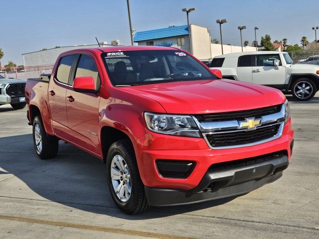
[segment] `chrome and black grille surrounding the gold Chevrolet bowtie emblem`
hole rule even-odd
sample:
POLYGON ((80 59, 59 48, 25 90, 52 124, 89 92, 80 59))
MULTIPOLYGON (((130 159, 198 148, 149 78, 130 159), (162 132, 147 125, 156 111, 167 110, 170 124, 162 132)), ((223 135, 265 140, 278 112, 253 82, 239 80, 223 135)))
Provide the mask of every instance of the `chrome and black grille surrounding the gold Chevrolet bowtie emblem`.
POLYGON ((193 119, 210 148, 246 147, 281 137, 284 129, 285 105, 250 111, 195 115, 193 119), (261 119, 261 123, 256 127, 241 127, 241 122, 246 122, 248 119, 261 119))

